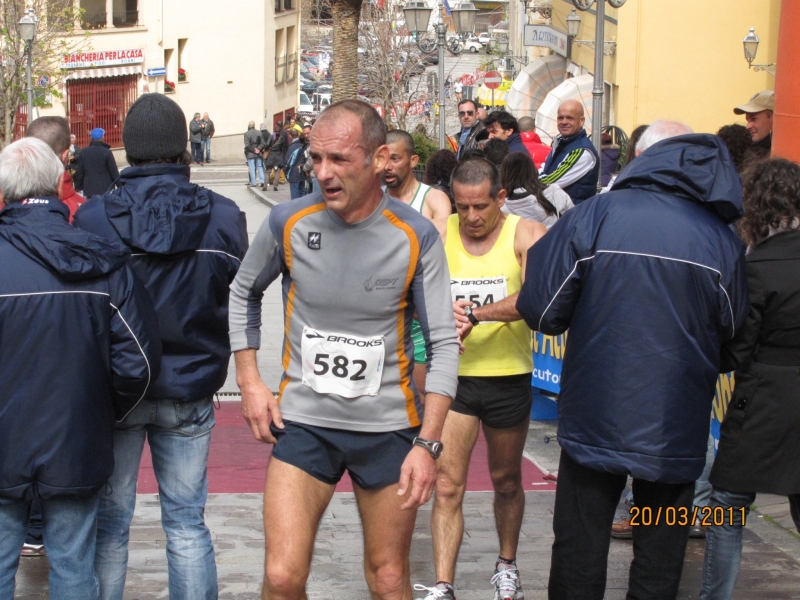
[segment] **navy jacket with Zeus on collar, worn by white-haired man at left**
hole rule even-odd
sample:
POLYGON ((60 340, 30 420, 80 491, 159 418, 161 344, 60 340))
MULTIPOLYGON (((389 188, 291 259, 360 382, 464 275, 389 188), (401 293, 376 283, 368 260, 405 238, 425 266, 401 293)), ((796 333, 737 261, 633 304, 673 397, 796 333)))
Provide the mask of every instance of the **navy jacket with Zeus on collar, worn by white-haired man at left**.
POLYGON ((129 252, 67 224, 57 198, 0 212, 0 503, 83 495, 158 377, 155 311, 129 252))

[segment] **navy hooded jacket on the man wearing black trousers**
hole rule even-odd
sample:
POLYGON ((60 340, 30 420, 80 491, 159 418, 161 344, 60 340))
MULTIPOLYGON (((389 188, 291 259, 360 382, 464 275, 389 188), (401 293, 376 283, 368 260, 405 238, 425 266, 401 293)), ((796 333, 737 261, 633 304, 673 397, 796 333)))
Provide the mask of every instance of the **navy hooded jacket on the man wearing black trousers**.
POLYGON ((528 251, 517 309, 569 329, 558 440, 581 465, 647 481, 705 465, 721 346, 749 308, 739 176, 713 135, 661 141, 612 191, 568 211, 528 251))

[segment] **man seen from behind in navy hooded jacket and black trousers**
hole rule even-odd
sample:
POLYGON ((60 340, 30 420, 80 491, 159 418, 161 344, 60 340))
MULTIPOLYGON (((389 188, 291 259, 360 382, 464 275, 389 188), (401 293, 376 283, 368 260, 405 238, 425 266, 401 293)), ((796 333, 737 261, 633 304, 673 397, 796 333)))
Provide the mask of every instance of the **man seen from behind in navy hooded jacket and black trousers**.
POLYGON ((742 188, 722 141, 659 121, 636 149, 611 192, 528 251, 517 301, 531 329, 569 329, 551 599, 603 598, 628 475, 628 597, 677 596, 720 348, 748 310, 744 252, 728 227, 742 188))

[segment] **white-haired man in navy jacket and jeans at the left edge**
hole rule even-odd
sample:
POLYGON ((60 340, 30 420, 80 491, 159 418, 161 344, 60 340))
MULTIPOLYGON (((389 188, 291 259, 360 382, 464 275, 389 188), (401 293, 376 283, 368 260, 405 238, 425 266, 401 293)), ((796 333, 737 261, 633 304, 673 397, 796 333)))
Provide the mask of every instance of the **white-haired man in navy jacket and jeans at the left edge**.
POLYGON ((161 361, 130 251, 67 223, 63 175, 36 138, 0 155, 0 598, 14 597, 37 498, 50 597, 98 597, 95 529, 114 421, 144 397, 161 361))

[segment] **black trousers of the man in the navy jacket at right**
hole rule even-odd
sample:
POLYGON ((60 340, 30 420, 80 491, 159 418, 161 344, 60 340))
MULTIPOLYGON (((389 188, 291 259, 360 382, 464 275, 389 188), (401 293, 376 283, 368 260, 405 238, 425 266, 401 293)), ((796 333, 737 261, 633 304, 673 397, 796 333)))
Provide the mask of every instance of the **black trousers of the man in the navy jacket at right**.
MULTIPOLYGON (((611 524, 626 479, 625 475, 581 466, 561 452, 553 515, 550 600, 602 600, 611 524)), ((634 479, 633 497, 637 508, 650 507, 653 515, 658 507, 686 507, 691 515, 694 483, 634 479)), ((678 595, 688 538, 688 524, 670 526, 663 518, 658 526, 633 528, 628 600, 668 600, 678 595)))

